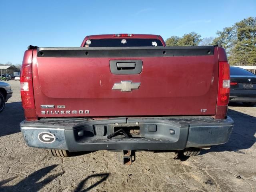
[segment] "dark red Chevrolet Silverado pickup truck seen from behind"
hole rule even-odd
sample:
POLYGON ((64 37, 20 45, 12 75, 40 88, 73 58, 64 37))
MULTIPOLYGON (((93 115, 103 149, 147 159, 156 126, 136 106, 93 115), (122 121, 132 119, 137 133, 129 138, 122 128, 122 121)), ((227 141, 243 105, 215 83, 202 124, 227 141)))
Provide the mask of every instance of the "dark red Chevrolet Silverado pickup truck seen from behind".
MULTIPOLYGON (((158 35, 86 36, 29 46, 20 77, 28 146, 70 152, 180 150, 224 144, 230 68, 218 46, 166 46, 158 35)), ((130 159, 128 159, 130 160, 130 159)))

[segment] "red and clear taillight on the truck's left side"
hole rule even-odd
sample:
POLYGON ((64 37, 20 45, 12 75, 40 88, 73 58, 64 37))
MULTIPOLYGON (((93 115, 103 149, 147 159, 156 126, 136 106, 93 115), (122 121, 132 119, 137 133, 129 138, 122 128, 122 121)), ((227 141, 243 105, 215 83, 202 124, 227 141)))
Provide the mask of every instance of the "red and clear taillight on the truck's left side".
POLYGON ((32 83, 32 64, 22 64, 20 73, 22 107, 24 109, 34 109, 35 102, 32 83))

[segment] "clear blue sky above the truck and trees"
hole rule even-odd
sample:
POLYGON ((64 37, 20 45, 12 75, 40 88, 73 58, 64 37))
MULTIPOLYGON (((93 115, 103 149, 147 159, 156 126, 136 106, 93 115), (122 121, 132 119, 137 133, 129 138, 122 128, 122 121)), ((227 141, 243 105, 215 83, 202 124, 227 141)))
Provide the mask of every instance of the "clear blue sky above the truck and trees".
POLYGON ((256 16, 256 0, 5 0, 0 1, 0 63, 20 64, 30 44, 80 46, 92 34, 216 36, 249 16, 256 16))

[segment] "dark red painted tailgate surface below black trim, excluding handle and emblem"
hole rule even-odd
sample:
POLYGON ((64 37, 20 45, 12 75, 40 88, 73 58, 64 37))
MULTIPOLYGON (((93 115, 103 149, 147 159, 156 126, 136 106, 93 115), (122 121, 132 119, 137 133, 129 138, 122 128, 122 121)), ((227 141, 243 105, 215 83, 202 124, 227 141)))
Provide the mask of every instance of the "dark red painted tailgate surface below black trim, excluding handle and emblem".
POLYGON ((35 56, 33 84, 38 117, 214 115, 218 55, 154 58, 35 56), (134 75, 110 72, 110 60, 126 59, 142 60, 142 72, 134 75), (139 89, 132 92, 112 90, 114 83, 125 80, 140 82, 139 89), (42 109, 41 105, 54 105, 55 108, 42 109), (58 105, 65 108, 57 108, 58 105), (54 114, 42 114, 41 111, 47 110, 54 114), (64 114, 58 112, 61 110, 64 114), (66 110, 89 110, 90 113, 66 114, 66 110))

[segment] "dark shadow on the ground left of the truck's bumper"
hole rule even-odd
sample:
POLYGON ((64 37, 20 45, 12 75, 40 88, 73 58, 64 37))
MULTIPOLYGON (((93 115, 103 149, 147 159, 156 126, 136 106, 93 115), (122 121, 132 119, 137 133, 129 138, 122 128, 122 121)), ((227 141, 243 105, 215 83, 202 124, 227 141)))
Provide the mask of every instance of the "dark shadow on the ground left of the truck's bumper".
POLYGON ((0 113, 0 136, 20 132, 20 122, 24 119, 21 102, 6 103, 0 113))

